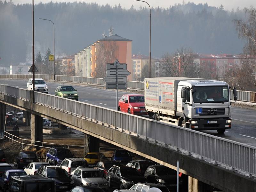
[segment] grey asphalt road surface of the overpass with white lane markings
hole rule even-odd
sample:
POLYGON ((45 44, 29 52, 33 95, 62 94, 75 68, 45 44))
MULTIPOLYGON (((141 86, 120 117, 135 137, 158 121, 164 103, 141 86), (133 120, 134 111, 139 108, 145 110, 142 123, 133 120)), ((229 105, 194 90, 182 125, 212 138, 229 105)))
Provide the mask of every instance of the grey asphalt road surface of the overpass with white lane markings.
MULTIPOLYGON (((7 80, 1 79, 0 84, 25 88, 28 80, 7 80)), ((54 95, 55 89, 59 85, 68 85, 68 82, 47 82, 48 93, 54 95)), ((116 109, 116 92, 113 90, 92 88, 88 86, 72 85, 77 89, 79 101, 98 105, 105 108, 116 109)), ((118 92, 118 100, 123 94, 130 94, 127 92, 118 92)), ((256 147, 256 110, 246 108, 232 109, 232 128, 228 129, 225 134, 219 135, 217 131, 204 131, 218 137, 234 140, 244 144, 249 144, 256 147)), ((72 134, 73 135, 73 134, 72 134)), ((82 136, 82 135, 81 135, 82 136)), ((69 134, 68 134, 69 137, 69 134)), ((73 136, 74 137, 74 136, 73 136)))

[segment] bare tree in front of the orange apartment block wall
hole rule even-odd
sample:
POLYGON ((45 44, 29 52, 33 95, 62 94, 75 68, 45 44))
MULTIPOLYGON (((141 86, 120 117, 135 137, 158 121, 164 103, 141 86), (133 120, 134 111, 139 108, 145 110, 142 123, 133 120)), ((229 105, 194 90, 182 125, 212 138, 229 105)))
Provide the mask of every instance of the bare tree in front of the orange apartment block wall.
POLYGON ((100 41, 97 46, 97 63, 96 63, 96 77, 103 78, 107 76, 106 65, 113 63, 118 59, 118 45, 115 41, 100 41))

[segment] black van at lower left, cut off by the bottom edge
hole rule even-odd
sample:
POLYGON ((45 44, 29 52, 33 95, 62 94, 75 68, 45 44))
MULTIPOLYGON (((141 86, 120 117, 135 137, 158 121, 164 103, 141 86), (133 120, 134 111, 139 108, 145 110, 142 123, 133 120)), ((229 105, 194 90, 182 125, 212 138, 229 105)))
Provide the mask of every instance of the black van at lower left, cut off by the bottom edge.
POLYGON ((54 180, 42 176, 12 176, 9 185, 9 192, 55 192, 54 180))

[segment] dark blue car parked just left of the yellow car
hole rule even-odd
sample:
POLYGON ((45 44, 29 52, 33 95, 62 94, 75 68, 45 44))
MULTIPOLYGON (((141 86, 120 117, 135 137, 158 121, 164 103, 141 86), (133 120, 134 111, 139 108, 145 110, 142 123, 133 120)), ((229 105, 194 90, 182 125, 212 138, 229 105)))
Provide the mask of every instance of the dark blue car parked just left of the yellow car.
POLYGON ((46 162, 50 164, 60 165, 63 159, 72 158, 73 155, 69 149, 66 148, 50 148, 46 154, 46 162))

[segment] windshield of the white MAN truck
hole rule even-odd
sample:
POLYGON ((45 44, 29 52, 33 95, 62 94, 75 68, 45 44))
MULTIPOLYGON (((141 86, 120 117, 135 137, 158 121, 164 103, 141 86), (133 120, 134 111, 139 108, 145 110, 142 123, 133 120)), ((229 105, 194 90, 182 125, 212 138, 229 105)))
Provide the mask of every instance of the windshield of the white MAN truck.
POLYGON ((193 88, 192 94, 195 103, 222 103, 229 101, 228 86, 198 86, 193 88))

